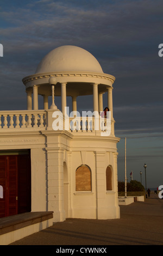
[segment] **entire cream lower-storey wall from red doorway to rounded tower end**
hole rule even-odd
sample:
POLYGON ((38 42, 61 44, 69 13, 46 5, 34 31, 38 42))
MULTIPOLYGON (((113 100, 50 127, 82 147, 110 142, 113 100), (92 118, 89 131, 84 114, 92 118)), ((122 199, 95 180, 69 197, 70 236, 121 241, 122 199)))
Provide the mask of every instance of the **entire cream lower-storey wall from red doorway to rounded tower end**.
POLYGON ((45 131, 43 135, 36 132, 32 135, 32 143, 30 138, 21 135, 21 142, 19 139, 16 144, 13 136, 9 143, 4 138, 1 143, 5 145, 3 149, 31 150, 32 211, 54 211, 53 221, 64 221, 65 217, 120 217, 117 202, 118 139, 91 134, 73 137, 68 132, 54 131, 45 131), (91 192, 76 192, 75 174, 81 164, 87 164, 91 169, 91 192), (106 191, 105 177, 108 165, 112 168, 112 191, 109 192, 106 191))

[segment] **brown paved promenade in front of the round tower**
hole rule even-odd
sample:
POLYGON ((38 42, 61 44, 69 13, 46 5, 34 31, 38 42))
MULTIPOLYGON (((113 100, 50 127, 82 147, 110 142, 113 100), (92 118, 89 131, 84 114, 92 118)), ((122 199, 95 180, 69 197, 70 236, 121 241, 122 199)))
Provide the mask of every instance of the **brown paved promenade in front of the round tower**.
POLYGON ((163 199, 120 206, 117 220, 67 219, 11 245, 163 245, 163 199))

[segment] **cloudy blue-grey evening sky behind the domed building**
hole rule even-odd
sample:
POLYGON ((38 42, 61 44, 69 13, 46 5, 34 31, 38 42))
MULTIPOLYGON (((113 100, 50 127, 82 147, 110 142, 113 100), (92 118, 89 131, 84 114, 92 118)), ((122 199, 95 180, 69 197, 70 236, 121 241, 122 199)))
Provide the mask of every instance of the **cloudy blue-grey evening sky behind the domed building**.
MULTIPOLYGON (((133 180, 141 181, 142 172, 145 186, 146 163, 147 187, 163 185, 162 0, 5 0, 0 2, 0 24, 0 111, 27 108, 22 78, 34 74, 49 51, 82 47, 104 73, 116 77, 118 180, 124 181, 126 137, 128 180, 132 171, 133 180)), ((78 99, 78 108, 83 101, 78 99)), ((107 106, 107 95, 103 103, 107 106)), ((86 97, 84 105, 90 110, 92 98, 86 97)))

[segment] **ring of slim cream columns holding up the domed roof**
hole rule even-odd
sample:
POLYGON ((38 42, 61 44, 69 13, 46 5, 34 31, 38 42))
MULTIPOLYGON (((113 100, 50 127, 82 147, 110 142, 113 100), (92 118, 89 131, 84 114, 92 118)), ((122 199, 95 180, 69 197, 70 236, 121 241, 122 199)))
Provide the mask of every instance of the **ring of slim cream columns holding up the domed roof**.
MULTIPOLYGON (((66 84, 61 83, 61 112, 65 114, 66 104, 66 84)), ((93 86, 93 111, 103 111, 103 93, 98 94, 98 83, 92 83, 93 86)), ((33 109, 37 110, 38 107, 38 87, 33 86, 27 90, 27 109, 32 109, 32 93, 33 93, 33 109)), ((112 87, 108 87, 108 107, 112 115, 112 87)), ((54 106, 54 86, 52 86, 52 105, 54 106)), ((43 108, 48 109, 48 96, 43 95, 43 108)), ((55 107, 54 107, 55 108, 55 107)), ((72 96, 72 110, 77 111, 77 96, 72 96)))

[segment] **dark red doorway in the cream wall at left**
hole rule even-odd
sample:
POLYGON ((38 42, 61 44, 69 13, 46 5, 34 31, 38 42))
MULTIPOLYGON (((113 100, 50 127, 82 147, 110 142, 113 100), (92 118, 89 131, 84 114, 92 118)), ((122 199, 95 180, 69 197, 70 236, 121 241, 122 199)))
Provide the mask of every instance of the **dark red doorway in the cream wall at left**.
POLYGON ((30 151, 0 155, 0 217, 31 211, 30 151))

